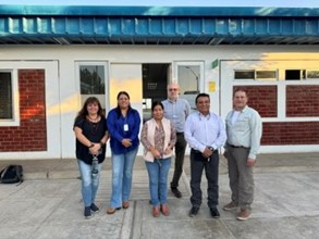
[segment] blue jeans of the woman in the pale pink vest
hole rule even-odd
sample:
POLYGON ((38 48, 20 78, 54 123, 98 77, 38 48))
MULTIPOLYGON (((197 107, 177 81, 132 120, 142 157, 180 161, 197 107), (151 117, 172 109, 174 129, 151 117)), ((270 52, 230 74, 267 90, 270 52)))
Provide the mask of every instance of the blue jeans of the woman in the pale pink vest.
POLYGON ((158 206, 168 202, 168 175, 171 167, 171 158, 145 161, 148 178, 151 204, 158 206))

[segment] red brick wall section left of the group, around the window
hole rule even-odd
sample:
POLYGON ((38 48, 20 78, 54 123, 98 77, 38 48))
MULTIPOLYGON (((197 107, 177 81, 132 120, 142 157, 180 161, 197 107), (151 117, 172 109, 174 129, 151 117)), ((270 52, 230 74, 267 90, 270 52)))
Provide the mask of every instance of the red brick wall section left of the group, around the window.
POLYGON ((0 128, 0 151, 46 151, 46 87, 44 70, 20 70, 19 127, 0 128))

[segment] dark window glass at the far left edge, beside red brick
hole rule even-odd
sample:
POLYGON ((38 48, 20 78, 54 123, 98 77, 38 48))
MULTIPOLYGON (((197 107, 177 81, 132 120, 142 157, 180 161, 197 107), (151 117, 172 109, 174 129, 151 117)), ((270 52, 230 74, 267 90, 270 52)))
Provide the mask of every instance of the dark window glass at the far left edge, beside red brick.
POLYGON ((0 120, 13 120, 12 78, 10 72, 0 72, 0 120))

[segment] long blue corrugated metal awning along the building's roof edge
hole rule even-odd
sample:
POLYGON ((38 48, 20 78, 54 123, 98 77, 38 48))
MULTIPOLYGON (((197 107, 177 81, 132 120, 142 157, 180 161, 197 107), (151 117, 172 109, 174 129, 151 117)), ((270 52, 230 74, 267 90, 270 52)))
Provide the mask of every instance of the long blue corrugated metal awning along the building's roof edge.
POLYGON ((0 5, 0 45, 318 45, 319 9, 0 5))

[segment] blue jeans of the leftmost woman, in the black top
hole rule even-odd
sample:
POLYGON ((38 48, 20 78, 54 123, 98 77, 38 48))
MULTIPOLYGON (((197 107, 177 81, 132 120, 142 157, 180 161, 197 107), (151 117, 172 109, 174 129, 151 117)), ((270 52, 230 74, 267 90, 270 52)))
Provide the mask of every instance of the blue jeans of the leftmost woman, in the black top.
POLYGON ((98 191, 99 187, 99 180, 100 180, 100 172, 102 164, 100 163, 98 166, 98 175, 93 178, 90 173, 90 164, 86 164, 81 160, 77 160, 78 169, 81 173, 81 179, 82 179, 82 197, 84 206, 90 206, 91 203, 95 202, 95 198, 98 191))

